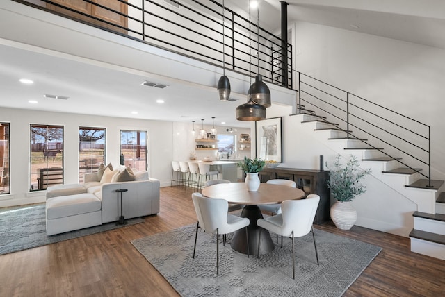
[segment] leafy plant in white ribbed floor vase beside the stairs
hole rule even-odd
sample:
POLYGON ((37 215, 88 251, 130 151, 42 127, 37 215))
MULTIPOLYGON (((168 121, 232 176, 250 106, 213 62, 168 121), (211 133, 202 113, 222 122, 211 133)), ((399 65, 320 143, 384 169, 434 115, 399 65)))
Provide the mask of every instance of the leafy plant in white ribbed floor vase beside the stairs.
POLYGON ((333 167, 328 167, 327 162, 326 167, 330 169, 327 186, 337 200, 330 210, 331 219, 337 228, 349 230, 357 221, 357 211, 350 201, 366 192, 366 186, 360 181, 371 173, 371 169, 360 168, 357 157, 353 155, 346 164, 342 164, 341 156, 337 155, 333 167))

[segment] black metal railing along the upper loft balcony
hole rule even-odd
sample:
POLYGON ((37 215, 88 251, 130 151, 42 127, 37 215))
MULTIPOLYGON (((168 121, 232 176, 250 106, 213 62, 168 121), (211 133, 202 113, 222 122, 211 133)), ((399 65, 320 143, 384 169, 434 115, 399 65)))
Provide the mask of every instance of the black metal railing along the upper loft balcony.
MULTIPOLYGON (((13 1, 241 74, 261 74, 264 80, 283 85, 273 78, 274 73, 282 71, 282 63, 277 63, 281 57, 276 53, 276 49, 282 51, 280 37, 227 7, 223 12, 223 5, 215 0, 189 3, 142 0, 138 4, 127 0, 102 1, 102 4, 79 0, 76 6, 74 2, 61 0, 40 0, 37 2, 40 5, 31 0, 13 1)), ((291 44, 285 50, 289 57, 285 70, 291 77, 291 44)), ((292 87, 291 79, 286 83, 284 87, 292 87)))

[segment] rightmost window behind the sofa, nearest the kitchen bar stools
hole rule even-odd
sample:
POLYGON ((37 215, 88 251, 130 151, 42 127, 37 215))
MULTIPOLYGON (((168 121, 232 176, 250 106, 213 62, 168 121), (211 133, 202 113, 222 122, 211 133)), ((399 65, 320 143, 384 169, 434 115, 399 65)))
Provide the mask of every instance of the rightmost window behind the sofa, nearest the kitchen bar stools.
POLYGON ((147 131, 120 130, 120 164, 147 170, 147 131))

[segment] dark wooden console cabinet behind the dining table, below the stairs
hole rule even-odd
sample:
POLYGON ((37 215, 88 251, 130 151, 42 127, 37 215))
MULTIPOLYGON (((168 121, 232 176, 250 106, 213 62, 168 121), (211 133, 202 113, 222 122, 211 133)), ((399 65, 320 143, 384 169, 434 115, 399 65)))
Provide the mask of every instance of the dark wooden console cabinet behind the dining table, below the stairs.
POLYGON ((315 214, 314 223, 323 223, 330 220, 330 190, 327 187, 329 171, 319 171, 311 169, 296 168, 265 168, 259 172, 261 183, 268 180, 285 179, 296 182, 296 187, 305 191, 305 196, 317 194, 320 196, 320 203, 315 214))

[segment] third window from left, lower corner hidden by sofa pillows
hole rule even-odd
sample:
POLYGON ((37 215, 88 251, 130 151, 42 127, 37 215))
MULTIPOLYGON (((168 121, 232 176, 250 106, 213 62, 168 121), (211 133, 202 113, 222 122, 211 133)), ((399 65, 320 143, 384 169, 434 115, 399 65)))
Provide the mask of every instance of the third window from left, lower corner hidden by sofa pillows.
POLYGON ((105 163, 105 128, 79 127, 79 183, 105 163))

